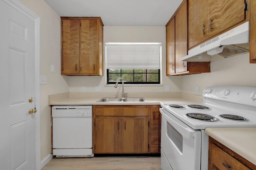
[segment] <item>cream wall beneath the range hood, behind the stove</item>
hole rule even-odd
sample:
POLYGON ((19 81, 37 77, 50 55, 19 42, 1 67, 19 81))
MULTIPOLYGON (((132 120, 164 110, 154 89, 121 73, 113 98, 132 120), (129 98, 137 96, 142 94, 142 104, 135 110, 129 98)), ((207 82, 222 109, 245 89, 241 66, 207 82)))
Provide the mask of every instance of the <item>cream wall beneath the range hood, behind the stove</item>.
POLYGON ((211 72, 181 76, 181 91, 200 94, 207 86, 252 86, 256 87, 256 64, 249 63, 249 53, 211 62, 211 72))

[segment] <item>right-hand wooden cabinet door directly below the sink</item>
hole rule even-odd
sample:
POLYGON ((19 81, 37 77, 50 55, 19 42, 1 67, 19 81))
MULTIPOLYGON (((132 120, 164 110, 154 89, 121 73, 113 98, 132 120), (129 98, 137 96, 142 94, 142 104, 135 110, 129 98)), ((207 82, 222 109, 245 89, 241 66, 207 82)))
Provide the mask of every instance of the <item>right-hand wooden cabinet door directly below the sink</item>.
POLYGON ((122 152, 148 153, 148 117, 122 120, 122 152))

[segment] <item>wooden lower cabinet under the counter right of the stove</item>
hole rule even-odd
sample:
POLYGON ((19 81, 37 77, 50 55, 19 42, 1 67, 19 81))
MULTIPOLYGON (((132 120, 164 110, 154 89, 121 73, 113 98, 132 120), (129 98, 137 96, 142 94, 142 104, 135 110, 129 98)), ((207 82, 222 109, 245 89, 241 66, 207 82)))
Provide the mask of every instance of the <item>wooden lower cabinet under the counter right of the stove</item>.
POLYGON ((255 170, 256 166, 209 137, 209 170, 255 170))

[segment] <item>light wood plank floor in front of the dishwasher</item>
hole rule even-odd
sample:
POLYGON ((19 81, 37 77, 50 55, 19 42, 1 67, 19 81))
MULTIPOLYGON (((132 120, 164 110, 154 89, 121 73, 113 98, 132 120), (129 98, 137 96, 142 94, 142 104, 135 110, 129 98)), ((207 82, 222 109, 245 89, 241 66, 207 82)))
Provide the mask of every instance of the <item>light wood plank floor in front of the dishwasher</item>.
POLYGON ((42 170, 161 170, 160 157, 53 158, 42 170))

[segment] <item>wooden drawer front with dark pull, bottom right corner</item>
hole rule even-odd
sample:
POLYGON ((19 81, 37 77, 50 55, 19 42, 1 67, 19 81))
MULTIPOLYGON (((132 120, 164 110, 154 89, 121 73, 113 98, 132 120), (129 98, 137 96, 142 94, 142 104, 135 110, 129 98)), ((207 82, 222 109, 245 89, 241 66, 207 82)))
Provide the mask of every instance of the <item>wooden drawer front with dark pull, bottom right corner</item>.
POLYGON ((211 154, 212 164, 209 167, 211 170, 228 170, 228 167, 231 170, 250 170, 247 166, 236 160, 234 157, 216 145, 212 145, 211 154))

